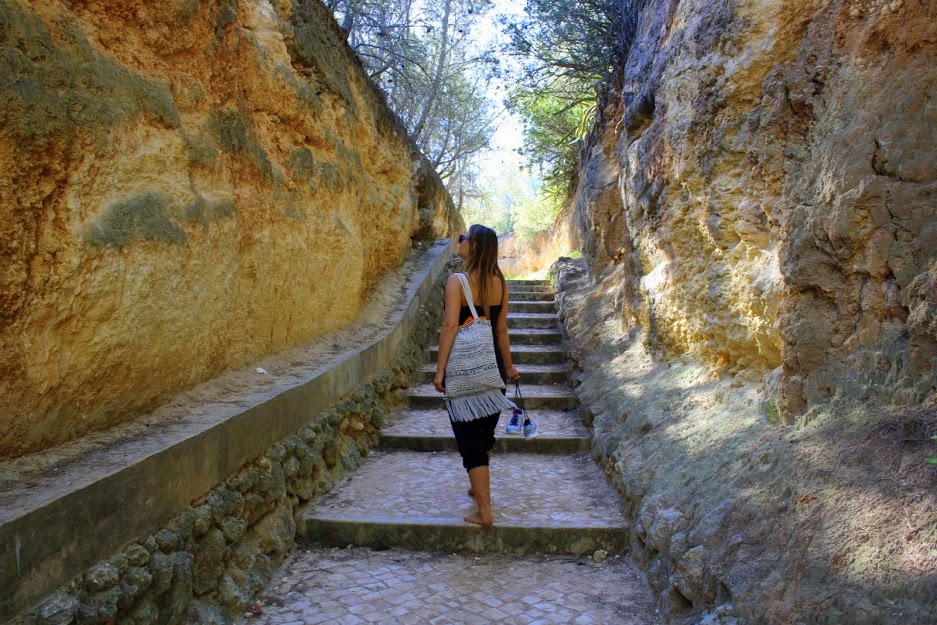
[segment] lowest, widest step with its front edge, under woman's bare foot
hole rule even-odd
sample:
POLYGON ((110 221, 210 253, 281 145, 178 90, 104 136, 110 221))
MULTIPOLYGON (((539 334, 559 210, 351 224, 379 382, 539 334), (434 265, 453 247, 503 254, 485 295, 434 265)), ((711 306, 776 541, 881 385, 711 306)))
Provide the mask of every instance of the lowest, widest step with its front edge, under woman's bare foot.
POLYGON ((476 510, 459 455, 377 451, 332 491, 301 509, 297 536, 325 546, 539 554, 623 552, 618 495, 587 454, 497 454, 495 525, 476 510), (610 505, 612 504, 612 505, 610 505))

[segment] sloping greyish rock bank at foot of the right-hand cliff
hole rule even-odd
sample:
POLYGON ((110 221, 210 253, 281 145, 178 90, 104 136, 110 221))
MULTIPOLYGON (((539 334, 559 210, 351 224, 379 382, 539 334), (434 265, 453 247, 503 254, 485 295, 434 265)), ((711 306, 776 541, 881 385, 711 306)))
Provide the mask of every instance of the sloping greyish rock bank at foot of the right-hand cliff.
POLYGON ((757 384, 649 354, 585 259, 552 275, 592 454, 665 623, 937 623, 937 405, 767 427, 757 384))

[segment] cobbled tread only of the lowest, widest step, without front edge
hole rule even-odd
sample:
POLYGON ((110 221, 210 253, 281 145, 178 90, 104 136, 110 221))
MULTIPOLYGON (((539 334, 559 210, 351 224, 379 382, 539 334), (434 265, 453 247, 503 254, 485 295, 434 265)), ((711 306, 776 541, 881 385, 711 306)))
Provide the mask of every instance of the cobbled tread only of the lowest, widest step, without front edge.
MULTIPOLYGON (((461 521, 476 510, 457 453, 376 452, 311 509, 315 516, 461 521)), ((621 526, 618 494, 585 454, 503 454, 491 462, 495 523, 621 526)))

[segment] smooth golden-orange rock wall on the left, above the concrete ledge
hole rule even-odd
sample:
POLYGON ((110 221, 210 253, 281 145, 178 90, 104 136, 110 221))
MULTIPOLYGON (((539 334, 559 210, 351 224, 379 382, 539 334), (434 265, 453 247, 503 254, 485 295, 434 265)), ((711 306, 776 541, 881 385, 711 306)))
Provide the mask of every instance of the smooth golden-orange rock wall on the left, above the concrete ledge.
POLYGON ((0 458, 355 318, 461 227, 317 0, 0 0, 0 458))

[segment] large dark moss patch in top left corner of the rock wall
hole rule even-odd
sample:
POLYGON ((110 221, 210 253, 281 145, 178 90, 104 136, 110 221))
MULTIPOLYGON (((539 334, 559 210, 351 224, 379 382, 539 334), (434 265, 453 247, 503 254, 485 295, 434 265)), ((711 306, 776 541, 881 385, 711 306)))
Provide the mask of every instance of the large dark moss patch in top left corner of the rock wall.
POLYGON ((77 24, 59 24, 57 35, 59 43, 35 13, 0 0, 0 125, 19 140, 90 131, 104 141, 112 125, 137 115, 179 127, 166 84, 99 54, 77 24))

